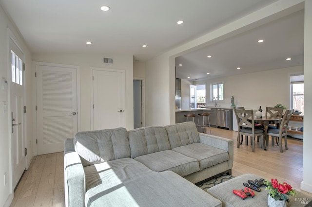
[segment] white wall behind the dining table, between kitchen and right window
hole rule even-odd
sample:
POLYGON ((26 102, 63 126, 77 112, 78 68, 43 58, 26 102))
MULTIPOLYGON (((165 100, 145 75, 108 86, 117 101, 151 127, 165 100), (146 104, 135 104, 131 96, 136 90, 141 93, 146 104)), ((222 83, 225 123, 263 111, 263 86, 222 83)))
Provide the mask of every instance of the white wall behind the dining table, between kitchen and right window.
MULTIPOLYGON (((222 81, 224 83, 224 99, 230 100, 234 96, 236 106, 245 106, 246 109, 257 109, 261 105, 273 107, 283 104, 290 108, 290 75, 303 73, 303 66, 274 69, 243 75, 229 76, 221 79, 198 81, 195 84, 206 84, 206 105, 213 106, 209 102, 210 85, 222 81)), ((231 102, 218 101, 218 105, 230 107, 231 102)))

